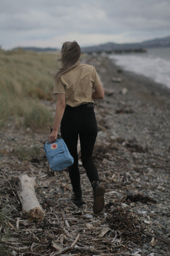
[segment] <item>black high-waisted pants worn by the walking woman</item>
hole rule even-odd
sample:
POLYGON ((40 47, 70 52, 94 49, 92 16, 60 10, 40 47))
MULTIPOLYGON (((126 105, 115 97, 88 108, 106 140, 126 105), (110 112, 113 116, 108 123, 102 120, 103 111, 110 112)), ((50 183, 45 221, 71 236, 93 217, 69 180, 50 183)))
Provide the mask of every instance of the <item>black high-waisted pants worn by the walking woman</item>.
POLYGON ((81 190, 77 150, 78 135, 81 146, 81 161, 88 178, 90 182, 99 180, 97 168, 92 160, 97 137, 97 123, 93 104, 89 103, 78 107, 66 106, 61 122, 61 135, 74 158, 74 164, 69 167, 69 174, 75 193, 81 190))

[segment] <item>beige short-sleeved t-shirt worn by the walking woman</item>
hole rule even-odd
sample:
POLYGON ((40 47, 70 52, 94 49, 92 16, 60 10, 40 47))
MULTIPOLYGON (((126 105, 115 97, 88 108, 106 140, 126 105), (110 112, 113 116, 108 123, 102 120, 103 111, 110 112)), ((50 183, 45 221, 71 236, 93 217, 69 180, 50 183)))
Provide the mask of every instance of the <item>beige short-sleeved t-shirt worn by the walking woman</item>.
POLYGON ((79 64, 54 82, 53 93, 64 93, 66 105, 77 107, 94 102, 92 90, 101 85, 96 69, 88 64, 79 64))

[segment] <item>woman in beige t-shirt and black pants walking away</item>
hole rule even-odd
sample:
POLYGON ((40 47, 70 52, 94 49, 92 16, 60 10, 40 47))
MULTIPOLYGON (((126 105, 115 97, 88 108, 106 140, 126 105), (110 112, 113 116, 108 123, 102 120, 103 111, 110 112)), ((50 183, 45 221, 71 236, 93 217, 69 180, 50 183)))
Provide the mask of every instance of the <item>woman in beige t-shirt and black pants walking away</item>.
POLYGON ((104 209, 104 188, 100 185, 98 172, 92 160, 97 137, 97 123, 94 99, 103 99, 104 90, 96 69, 79 62, 81 55, 77 42, 65 42, 61 50, 61 68, 54 77, 54 91, 57 94, 55 120, 49 141, 57 138, 58 128, 64 139, 74 164, 69 167, 73 188, 72 201, 82 205, 82 191, 78 166, 78 137, 80 138, 81 160, 94 190, 94 213, 104 209))

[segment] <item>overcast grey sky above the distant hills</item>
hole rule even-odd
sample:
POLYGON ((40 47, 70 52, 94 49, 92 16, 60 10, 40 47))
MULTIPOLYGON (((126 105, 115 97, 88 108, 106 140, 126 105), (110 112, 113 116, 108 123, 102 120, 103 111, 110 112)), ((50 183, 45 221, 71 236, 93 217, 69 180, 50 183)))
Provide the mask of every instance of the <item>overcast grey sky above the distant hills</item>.
POLYGON ((130 43, 170 35, 170 0, 1 0, 0 46, 130 43))

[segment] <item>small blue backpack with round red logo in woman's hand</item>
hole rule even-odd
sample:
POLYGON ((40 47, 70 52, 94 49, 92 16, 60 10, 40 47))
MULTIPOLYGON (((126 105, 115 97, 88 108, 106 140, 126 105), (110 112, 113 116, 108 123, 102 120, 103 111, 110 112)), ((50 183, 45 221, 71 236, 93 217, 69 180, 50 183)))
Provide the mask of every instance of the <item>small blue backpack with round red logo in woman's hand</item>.
POLYGON ((53 171, 61 171, 74 163, 74 159, 62 138, 57 139, 54 143, 47 141, 44 150, 49 167, 53 171))

